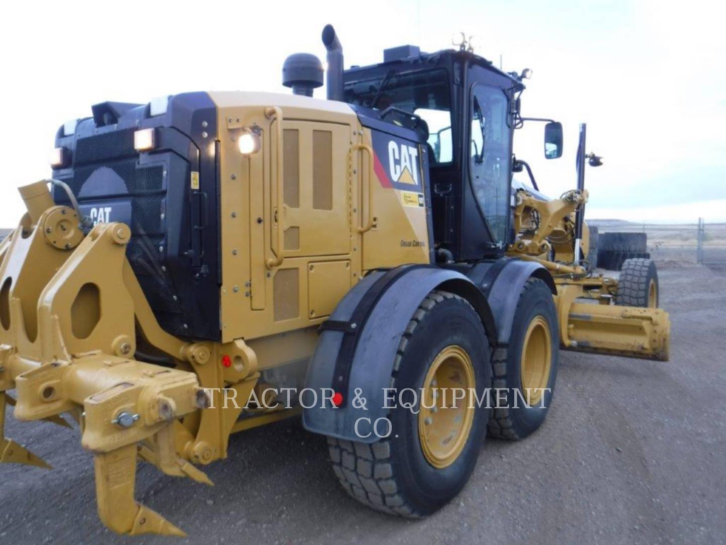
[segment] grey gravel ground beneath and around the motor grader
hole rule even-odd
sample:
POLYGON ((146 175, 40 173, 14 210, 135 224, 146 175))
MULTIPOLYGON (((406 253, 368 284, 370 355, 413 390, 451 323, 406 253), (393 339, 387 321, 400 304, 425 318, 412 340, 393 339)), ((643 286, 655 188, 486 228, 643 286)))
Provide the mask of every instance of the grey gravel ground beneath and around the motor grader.
POLYGON ((230 458, 208 467, 213 488, 140 467, 136 497, 189 538, 115 536, 97 518, 77 433, 9 416, 7 435, 55 469, 0 467, 0 544, 724 542, 726 270, 659 274, 671 361, 562 352, 542 428, 487 440, 464 491, 426 520, 349 498, 325 438, 291 420, 232 437, 230 458))

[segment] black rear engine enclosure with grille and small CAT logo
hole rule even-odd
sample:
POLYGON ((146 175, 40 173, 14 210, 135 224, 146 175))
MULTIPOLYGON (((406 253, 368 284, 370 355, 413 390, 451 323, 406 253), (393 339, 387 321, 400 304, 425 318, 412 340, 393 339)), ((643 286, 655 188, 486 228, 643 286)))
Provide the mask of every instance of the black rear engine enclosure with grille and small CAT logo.
MULTIPOLYGON (((219 340, 216 105, 195 92, 169 97, 158 116, 148 104, 103 102, 92 111, 74 134, 57 132, 70 162, 53 177, 94 223, 131 227, 126 256, 165 331, 219 340), (153 150, 134 149, 139 129, 155 131, 153 150)), ((60 188, 53 196, 68 203, 60 188)))

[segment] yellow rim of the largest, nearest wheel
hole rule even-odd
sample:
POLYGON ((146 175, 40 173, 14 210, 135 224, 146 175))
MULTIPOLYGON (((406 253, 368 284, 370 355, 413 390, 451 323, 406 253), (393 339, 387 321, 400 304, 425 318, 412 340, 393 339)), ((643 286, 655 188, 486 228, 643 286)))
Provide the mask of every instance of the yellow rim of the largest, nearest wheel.
POLYGON ((453 464, 469 438, 474 420, 470 388, 476 388, 471 358, 462 347, 450 344, 428 369, 418 413, 421 450, 433 467, 441 469, 453 464), (464 389, 463 400, 452 401, 453 388, 464 389))

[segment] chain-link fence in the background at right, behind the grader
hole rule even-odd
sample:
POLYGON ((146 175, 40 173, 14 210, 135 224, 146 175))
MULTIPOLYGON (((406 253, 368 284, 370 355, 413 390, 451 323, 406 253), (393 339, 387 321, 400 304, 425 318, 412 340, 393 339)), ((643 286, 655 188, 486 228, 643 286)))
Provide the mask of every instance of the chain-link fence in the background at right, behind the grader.
POLYGON ((650 258, 661 262, 726 265, 726 223, 637 224, 632 222, 587 222, 599 233, 645 233, 650 258))

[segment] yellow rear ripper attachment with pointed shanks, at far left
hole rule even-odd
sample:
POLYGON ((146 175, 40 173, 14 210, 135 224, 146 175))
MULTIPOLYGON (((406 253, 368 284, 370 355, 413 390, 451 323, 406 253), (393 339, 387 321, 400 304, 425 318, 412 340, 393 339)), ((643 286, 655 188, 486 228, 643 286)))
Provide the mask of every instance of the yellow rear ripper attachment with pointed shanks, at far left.
POLYGON ((134 501, 136 458, 168 475, 209 480, 176 452, 176 419, 208 403, 197 376, 134 360, 136 323, 179 360, 187 344, 155 322, 126 260, 122 223, 79 229, 37 182, 20 189, 28 208, 0 247, 0 461, 49 467, 4 437, 4 413, 65 424, 70 413, 94 453, 98 511, 118 533, 184 533, 134 501), (15 389, 13 398, 8 390, 15 389))

